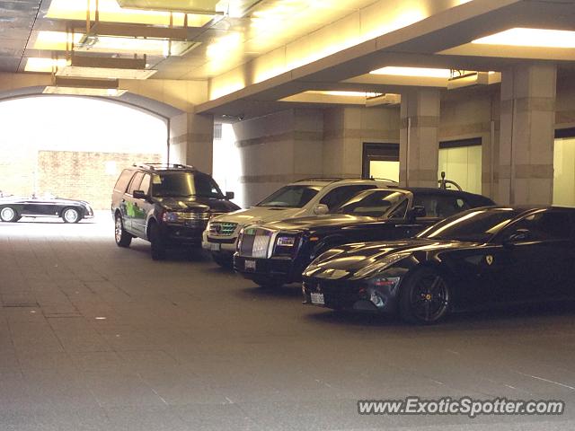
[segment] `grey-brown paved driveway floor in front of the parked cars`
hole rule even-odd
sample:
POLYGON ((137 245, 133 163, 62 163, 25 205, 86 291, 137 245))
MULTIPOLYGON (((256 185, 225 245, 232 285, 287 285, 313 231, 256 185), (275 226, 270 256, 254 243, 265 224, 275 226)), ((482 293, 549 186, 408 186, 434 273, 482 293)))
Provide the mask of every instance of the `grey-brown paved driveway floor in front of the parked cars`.
POLYGON ((0 429, 573 429, 575 307, 418 328, 305 307, 97 223, 0 224, 0 429), (565 400, 561 417, 359 416, 357 400, 565 400))

